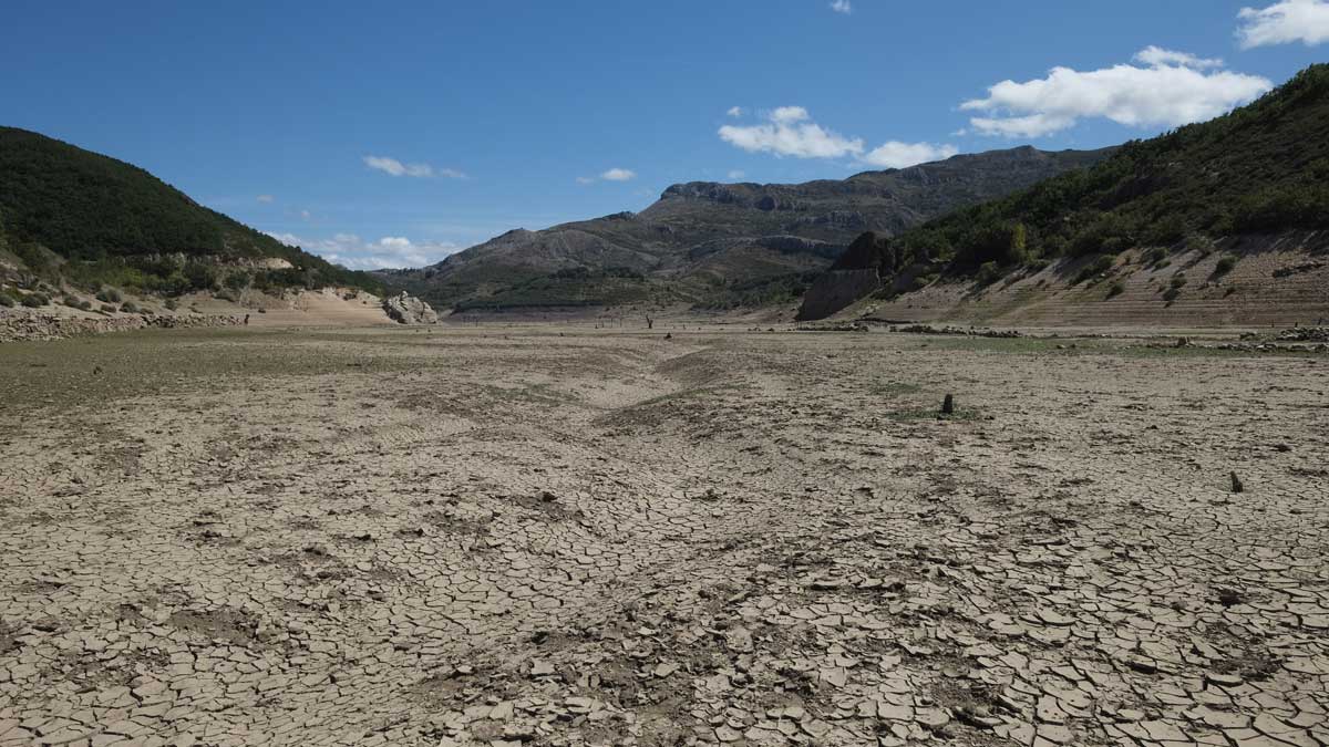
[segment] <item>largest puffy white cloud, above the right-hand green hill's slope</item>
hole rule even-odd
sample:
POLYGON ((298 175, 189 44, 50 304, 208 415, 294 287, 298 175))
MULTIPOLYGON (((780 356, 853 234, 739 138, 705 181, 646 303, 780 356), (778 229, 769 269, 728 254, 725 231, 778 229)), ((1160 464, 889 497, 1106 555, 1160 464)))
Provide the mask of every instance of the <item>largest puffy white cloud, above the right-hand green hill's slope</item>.
POLYGON ((1041 137, 1104 117, 1132 126, 1179 126, 1211 120, 1265 93, 1273 84, 1229 70, 1204 72, 1216 60, 1150 47, 1135 56, 1146 66, 1114 65, 1099 70, 1053 68, 1046 78, 1002 81, 986 98, 961 104, 982 112, 969 124, 981 134, 1041 137))

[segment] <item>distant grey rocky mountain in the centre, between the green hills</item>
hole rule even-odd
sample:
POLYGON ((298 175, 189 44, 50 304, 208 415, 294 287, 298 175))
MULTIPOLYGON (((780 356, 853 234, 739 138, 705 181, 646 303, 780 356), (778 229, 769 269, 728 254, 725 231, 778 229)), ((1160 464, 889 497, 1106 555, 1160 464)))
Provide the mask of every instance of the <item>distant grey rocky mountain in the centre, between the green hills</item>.
POLYGON ((865 230, 894 234, 1110 152, 1017 148, 839 181, 674 185, 637 214, 518 229, 384 278, 461 310, 796 298, 865 230))

